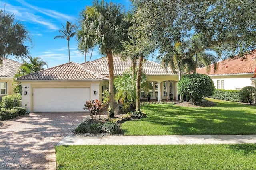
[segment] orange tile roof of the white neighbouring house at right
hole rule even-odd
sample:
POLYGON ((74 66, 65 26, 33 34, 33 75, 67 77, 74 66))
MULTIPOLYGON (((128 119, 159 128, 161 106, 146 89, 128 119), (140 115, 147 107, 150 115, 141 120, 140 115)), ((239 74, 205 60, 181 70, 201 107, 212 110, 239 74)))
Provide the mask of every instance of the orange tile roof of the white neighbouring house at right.
POLYGON ((207 75, 224 75, 224 74, 246 74, 246 73, 256 73, 256 52, 254 54, 246 56, 247 60, 223 60, 218 62, 219 69, 214 73, 213 67, 211 66, 210 73, 206 73, 206 67, 196 69, 197 73, 207 74, 207 75))

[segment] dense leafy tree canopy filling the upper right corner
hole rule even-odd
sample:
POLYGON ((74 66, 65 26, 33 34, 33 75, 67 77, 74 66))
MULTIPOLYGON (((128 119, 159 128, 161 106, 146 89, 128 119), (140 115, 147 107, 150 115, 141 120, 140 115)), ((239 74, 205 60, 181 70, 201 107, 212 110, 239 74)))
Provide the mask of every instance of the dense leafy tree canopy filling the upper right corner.
POLYGON ((166 38, 173 45, 177 38, 185 41, 194 35, 201 36, 201 46, 187 51, 190 56, 214 49, 221 57, 243 58, 256 48, 254 0, 166 0, 153 8, 161 9, 152 28, 160 48, 166 38))

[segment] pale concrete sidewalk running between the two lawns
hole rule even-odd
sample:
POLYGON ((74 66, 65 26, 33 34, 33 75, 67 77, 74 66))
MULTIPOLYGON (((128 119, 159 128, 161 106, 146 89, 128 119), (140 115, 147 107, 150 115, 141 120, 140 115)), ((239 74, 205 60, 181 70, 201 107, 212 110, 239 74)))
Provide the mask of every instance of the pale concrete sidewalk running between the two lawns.
POLYGON ((256 135, 66 136, 57 145, 178 145, 256 143, 256 135))

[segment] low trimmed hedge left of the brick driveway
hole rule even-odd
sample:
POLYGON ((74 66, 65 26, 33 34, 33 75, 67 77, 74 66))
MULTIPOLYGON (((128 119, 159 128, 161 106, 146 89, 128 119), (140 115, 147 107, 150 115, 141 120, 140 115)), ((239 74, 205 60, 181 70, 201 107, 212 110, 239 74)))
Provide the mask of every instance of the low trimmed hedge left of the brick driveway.
POLYGON ((24 115, 26 109, 23 107, 14 107, 12 109, 1 108, 0 111, 0 120, 13 119, 17 116, 24 115))

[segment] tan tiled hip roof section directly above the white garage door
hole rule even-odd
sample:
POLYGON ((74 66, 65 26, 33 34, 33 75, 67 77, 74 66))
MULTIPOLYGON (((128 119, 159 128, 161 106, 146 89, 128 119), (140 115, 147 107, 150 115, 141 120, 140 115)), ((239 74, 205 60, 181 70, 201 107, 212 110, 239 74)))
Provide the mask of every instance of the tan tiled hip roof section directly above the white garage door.
POLYGON ((34 72, 18 80, 108 80, 107 77, 90 70, 86 66, 69 62, 38 72, 34 72))

